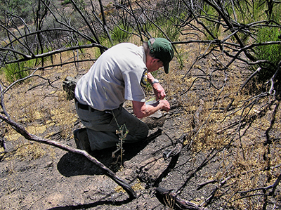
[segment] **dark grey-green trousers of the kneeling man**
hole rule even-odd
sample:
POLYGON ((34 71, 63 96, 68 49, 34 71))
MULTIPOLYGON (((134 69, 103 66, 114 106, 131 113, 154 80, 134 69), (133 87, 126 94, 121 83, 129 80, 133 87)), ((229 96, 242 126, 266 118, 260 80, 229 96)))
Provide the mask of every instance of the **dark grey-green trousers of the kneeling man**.
POLYGON ((122 105, 115 110, 98 111, 82 110, 75 103, 82 124, 86 126, 91 150, 102 150, 113 147, 119 142, 116 131, 126 125, 129 131, 123 143, 133 143, 145 140, 148 136, 148 126, 127 112, 122 105))

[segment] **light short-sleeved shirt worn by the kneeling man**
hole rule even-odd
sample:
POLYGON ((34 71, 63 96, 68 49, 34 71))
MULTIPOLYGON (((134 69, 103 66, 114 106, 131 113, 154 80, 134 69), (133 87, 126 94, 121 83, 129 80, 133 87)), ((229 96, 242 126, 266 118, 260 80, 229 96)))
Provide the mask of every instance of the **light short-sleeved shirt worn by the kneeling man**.
POLYGON ((145 102, 147 72, 143 46, 117 44, 79 79, 75 97, 96 110, 113 110, 125 100, 145 102))

